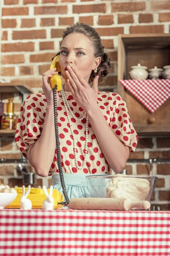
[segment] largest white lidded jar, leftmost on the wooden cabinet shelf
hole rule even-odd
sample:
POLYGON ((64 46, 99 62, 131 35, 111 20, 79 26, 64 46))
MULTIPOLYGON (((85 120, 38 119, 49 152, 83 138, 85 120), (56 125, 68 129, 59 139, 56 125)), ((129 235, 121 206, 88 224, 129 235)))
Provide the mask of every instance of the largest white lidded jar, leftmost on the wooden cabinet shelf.
POLYGON ((148 72, 146 71, 147 67, 141 66, 141 64, 138 63, 137 66, 132 66, 131 69, 132 70, 129 72, 131 79, 138 79, 138 80, 147 79, 148 77, 148 72))

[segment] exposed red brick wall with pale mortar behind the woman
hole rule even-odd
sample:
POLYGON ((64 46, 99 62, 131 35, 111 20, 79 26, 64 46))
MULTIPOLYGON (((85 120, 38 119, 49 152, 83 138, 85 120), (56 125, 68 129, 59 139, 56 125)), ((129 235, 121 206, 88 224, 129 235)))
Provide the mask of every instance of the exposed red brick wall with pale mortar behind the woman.
MULTIPOLYGON (((105 51, 111 56, 108 79, 100 90, 117 89, 117 35, 130 33, 170 33, 170 0, 0 0, 1 55, 0 76, 11 82, 24 82, 34 93, 42 92, 42 73, 48 70, 51 57, 59 49, 62 30, 79 22, 94 26, 101 35, 105 51)), ((20 110, 20 96, 3 94, 3 102, 14 98, 15 111, 20 110)), ((5 106, 6 107, 6 106, 5 106)), ((20 158, 13 138, 3 138, 0 158, 20 158)), ((130 158, 170 159, 170 137, 140 137, 136 153, 130 158)), ((14 164, 1 164, 0 179, 22 184, 14 164)), ((127 164, 128 173, 146 174, 148 165, 127 164)), ((153 175, 159 177, 152 204, 170 209, 170 162, 153 164, 153 175)), ((40 185, 51 179, 39 177, 40 185)))

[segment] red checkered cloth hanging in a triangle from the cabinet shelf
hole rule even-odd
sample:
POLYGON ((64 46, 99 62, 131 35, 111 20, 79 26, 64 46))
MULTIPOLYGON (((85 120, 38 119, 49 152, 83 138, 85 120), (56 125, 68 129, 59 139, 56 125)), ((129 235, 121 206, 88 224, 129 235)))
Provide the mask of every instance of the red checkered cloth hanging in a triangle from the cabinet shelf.
POLYGON ((151 113, 170 97, 170 79, 119 80, 151 113))

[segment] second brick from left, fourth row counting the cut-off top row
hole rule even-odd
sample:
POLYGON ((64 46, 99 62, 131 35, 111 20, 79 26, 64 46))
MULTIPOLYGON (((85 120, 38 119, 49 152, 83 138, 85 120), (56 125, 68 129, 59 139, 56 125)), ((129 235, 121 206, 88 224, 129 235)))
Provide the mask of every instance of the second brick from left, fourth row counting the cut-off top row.
POLYGON ((37 39, 37 38, 46 38, 45 29, 42 30, 26 30, 26 31, 13 31, 12 39, 23 40, 23 39, 37 39))

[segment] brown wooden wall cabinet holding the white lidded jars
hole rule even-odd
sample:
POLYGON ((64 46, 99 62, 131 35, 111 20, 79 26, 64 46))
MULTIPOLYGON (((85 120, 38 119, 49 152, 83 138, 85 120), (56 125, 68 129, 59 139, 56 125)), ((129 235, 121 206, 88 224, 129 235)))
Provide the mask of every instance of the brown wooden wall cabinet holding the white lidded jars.
MULTIPOLYGON (((131 66, 140 63, 148 70, 170 65, 170 34, 119 35, 118 81, 130 79, 131 66)), ((150 113, 118 82, 118 93, 127 103, 130 118, 139 135, 170 135, 170 98, 150 113)))

